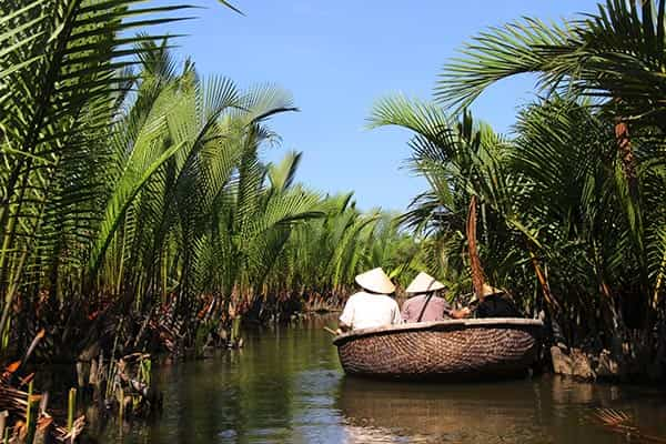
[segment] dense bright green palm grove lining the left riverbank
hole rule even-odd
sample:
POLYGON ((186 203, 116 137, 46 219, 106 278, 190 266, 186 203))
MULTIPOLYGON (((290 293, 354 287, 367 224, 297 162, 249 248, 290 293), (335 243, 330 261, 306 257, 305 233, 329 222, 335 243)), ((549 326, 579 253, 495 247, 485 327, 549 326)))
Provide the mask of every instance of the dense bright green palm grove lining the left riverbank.
POLYGON ((393 218, 299 184, 301 153, 262 160, 280 141, 269 120, 297 111, 287 92, 199 75, 145 33, 185 7, 134 3, 3 4, 2 354, 40 329, 51 361, 199 352, 234 319, 289 315, 344 296, 360 270, 405 266, 393 218))

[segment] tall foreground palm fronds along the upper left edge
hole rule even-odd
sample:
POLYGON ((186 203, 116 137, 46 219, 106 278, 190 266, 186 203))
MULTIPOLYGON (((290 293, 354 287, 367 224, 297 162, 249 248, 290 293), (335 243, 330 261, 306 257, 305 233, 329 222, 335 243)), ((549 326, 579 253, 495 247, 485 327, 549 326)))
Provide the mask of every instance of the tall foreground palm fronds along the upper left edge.
POLYGON ((85 236, 97 223, 92 208, 75 204, 94 201, 100 186, 100 176, 81 165, 94 167, 94 159, 105 155, 99 142, 112 137, 110 122, 129 80, 121 75, 129 73, 127 68, 142 51, 135 43, 158 37, 129 37, 127 30, 142 27, 149 31, 182 20, 180 14, 189 9, 185 4, 135 3, 49 0, 6 4, 0 26, 0 155, 4 165, 0 173, 0 290, 8 301, 2 329, 24 270, 32 273, 38 262, 68 258, 59 253, 62 242, 58 239, 65 233, 85 236), (77 174, 71 180, 75 189, 62 181, 58 174, 62 171, 77 174), (48 251, 47 245, 56 251, 48 251))

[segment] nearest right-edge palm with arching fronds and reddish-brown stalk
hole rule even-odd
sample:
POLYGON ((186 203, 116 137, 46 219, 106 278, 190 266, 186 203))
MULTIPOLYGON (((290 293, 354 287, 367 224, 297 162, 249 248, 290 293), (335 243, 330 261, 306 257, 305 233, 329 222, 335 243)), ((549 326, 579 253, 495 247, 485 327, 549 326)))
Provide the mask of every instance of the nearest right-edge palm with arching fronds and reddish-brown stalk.
POLYGON ((647 226, 662 222, 645 219, 649 209, 644 208, 639 170, 647 159, 638 159, 635 151, 649 141, 654 147, 645 153, 654 155, 649 161, 664 162, 665 8, 664 0, 607 0, 596 13, 559 26, 524 19, 492 28, 445 67, 436 89, 438 101, 466 107, 502 79, 536 73, 546 92, 589 99, 586 103, 608 118, 625 180, 618 184, 622 208, 634 260, 640 263, 639 292, 653 295, 653 306, 663 285, 666 245, 663 234, 650 234, 655 229, 647 226))

